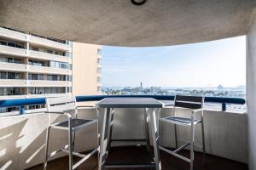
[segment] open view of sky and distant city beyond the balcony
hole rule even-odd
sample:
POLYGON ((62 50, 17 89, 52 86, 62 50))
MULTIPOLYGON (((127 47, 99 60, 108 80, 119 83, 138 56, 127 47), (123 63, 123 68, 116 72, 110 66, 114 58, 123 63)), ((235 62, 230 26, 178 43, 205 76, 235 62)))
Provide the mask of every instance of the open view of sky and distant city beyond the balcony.
MULTIPOLYGON (((246 37, 154 48, 103 46, 102 94, 246 99, 246 37)), ((227 109, 244 113, 246 105, 227 109)))

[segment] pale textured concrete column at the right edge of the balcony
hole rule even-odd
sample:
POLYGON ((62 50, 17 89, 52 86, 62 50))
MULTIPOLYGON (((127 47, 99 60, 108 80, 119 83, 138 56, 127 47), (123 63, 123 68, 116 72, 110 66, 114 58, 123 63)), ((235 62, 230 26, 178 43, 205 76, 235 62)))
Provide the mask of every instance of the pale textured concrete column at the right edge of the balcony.
POLYGON ((256 169, 256 11, 247 34, 248 165, 256 169))

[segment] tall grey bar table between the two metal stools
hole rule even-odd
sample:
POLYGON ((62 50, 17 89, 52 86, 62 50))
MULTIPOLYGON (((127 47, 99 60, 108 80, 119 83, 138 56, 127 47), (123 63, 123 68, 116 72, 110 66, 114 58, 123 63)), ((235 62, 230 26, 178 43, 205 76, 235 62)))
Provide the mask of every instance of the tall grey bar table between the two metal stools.
POLYGON ((161 169, 159 154, 159 132, 158 132, 158 116, 160 108, 164 107, 164 103, 153 98, 135 98, 135 97, 110 97, 102 99, 96 103, 97 111, 104 109, 102 133, 100 134, 100 154, 99 154, 99 170, 104 168, 125 168, 125 167, 155 167, 156 170, 161 169), (114 108, 145 108, 150 121, 150 130, 152 133, 152 141, 154 147, 154 163, 153 164, 106 164, 108 157, 108 144, 111 134, 111 123, 113 122, 114 108))

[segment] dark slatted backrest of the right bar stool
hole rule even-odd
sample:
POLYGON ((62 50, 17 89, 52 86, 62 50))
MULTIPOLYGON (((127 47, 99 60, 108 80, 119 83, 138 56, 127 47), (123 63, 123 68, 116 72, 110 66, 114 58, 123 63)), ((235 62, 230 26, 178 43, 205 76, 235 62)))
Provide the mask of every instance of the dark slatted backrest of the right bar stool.
POLYGON ((204 98, 201 96, 175 96, 175 107, 183 107, 187 109, 202 109, 204 103, 204 98))

